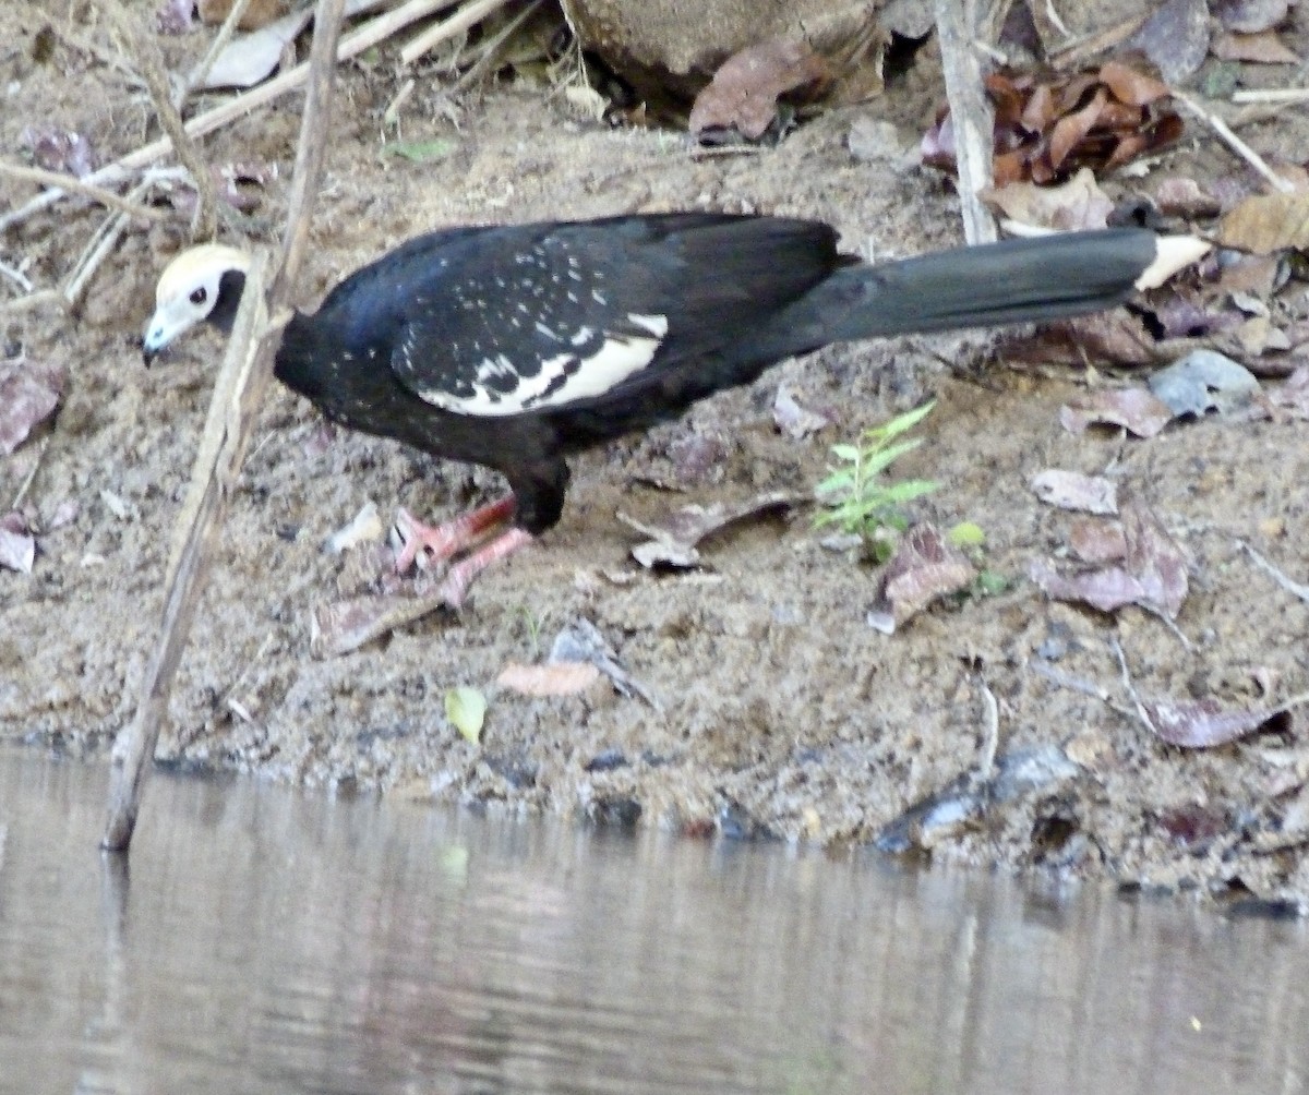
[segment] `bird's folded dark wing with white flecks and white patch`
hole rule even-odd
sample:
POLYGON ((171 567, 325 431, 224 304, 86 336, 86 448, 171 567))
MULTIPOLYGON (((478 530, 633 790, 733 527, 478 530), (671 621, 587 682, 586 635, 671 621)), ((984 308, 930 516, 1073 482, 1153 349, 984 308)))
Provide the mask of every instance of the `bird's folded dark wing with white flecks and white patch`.
POLYGON ((487 417, 630 389, 808 288, 812 275, 792 287, 774 264, 778 224, 798 225, 682 215, 488 232, 403 301, 391 369, 432 406, 487 417))

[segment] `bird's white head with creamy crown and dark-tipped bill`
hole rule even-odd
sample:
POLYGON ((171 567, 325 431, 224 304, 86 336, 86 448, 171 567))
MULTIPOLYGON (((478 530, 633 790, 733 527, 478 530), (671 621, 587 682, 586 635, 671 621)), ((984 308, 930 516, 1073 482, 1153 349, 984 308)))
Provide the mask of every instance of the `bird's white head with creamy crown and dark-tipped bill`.
POLYGON ((154 289, 154 314, 141 340, 145 364, 196 323, 208 321, 230 334, 249 269, 245 251, 221 243, 203 243, 173 259, 154 289))

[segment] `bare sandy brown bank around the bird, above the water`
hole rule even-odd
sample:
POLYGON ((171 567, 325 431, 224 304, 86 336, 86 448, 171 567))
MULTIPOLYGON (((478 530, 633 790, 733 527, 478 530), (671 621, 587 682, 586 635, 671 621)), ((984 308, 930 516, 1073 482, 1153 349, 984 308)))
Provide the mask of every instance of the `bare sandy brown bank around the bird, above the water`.
MULTIPOLYGON (((144 98, 93 58, 59 43, 54 63, 33 61, 41 22, 39 12, 13 5, 0 14, 0 41, 17 43, 0 52, 0 86, 10 85, 5 156, 16 156, 25 124, 42 120, 93 133, 106 158, 153 132, 144 98)), ((410 99, 403 136, 448 139, 453 149, 411 164, 378 154, 381 115, 398 86, 390 65, 347 67, 304 300, 420 230, 491 220, 757 209, 821 217, 848 247, 876 256, 957 242, 956 201, 935 173, 859 162, 846 143, 861 116, 889 119, 906 144, 916 141, 935 80, 924 59, 882 98, 829 113, 778 148, 703 160, 677 135, 581 119, 533 88, 469 101, 454 124, 437 109, 433 82, 410 99)), ((255 213, 266 228, 284 209, 298 109, 292 97, 206 143, 215 162, 279 166, 255 213)), ((1266 150, 1302 148, 1291 126, 1245 136, 1266 150)), ((1207 133, 1190 132, 1161 169, 1236 170, 1207 133)), ((1106 187, 1122 194, 1131 184, 1106 187)), ((3 207, 30 194, 0 186, 3 207)), ((27 276, 56 284, 102 216, 65 201, 10 232, 4 260, 31 258, 27 276)), ((75 522, 41 538, 30 574, 0 570, 7 738, 101 751, 132 714, 220 355, 206 335, 166 364, 141 366, 136 340, 174 246, 166 230, 134 230, 81 315, 4 315, 10 348, 62 362, 71 379, 47 436, 0 458, 0 500, 14 497, 39 454, 26 510, 39 521, 63 502, 80 508, 75 522)), ((17 290, 4 292, 12 300, 17 290)), ((385 441, 325 437, 313 408, 279 390, 221 539, 160 759, 840 846, 873 840, 914 803, 977 772, 992 725, 988 689, 1001 757, 1026 757, 1037 774, 1009 780, 994 802, 967 798, 957 823, 923 828, 936 858, 1309 899, 1302 721, 1289 734, 1187 752, 1039 671, 1093 683, 1126 704, 1117 638, 1136 687, 1151 693, 1238 705, 1266 701, 1258 682, 1271 682, 1274 699, 1305 691, 1309 606, 1234 546, 1246 539, 1291 574, 1309 572, 1302 425, 1210 419, 1148 442, 1075 437, 1058 409, 1086 377, 1003 362, 979 369, 990 344, 970 336, 829 348, 677 424, 590 453, 575 463, 559 527, 488 573, 462 614, 429 616, 329 659, 310 654, 310 614, 355 578, 348 555, 323 551, 325 536, 369 500, 384 515, 404 505, 435 517, 488 500, 500 484, 385 441), (834 425, 804 441, 780 434, 771 413, 779 383, 802 406, 829 411, 834 425), (980 525, 986 565, 1012 580, 1007 591, 939 604, 880 634, 865 623, 874 572, 821 547, 806 508, 719 536, 695 570, 652 573, 630 557, 637 534, 619 510, 652 521, 687 502, 810 491, 830 445, 928 396, 940 403, 927 443, 899 470, 942 485, 915 513, 942 526, 980 525), (1178 620, 1190 648, 1145 612, 1051 603, 1024 577, 1031 559, 1067 538, 1068 515, 1028 485, 1046 467, 1109 468, 1153 506, 1190 557, 1192 591, 1178 620), (657 708, 605 682, 565 699, 496 688, 507 663, 545 657, 577 617, 594 623, 657 708), (446 721, 444 696, 456 686, 490 697, 480 744, 446 721)))

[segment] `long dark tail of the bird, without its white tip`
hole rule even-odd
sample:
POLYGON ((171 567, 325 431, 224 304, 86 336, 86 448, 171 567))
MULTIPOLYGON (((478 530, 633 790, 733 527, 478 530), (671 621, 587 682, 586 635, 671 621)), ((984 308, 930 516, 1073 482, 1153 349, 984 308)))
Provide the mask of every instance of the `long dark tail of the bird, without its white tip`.
POLYGON ((1160 258, 1158 237, 1106 229, 957 247, 850 266, 779 313, 759 349, 1056 319, 1127 300, 1160 258))

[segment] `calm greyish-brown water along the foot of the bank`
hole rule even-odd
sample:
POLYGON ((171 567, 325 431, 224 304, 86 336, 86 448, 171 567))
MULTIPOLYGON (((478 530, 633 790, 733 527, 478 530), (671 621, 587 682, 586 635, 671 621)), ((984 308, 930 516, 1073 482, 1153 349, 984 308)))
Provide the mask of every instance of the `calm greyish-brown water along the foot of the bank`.
POLYGON ((1098 887, 0 754, 3 1092, 1300 1092, 1309 938, 1098 887))

